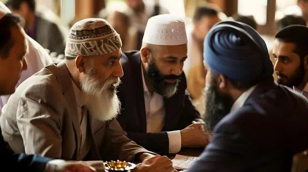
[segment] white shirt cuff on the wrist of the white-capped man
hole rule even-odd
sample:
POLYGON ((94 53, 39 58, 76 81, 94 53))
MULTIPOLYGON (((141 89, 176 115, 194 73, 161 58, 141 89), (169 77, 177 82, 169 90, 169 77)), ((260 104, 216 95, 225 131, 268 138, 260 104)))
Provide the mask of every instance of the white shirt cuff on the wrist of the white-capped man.
POLYGON ((181 150, 182 138, 180 130, 168 131, 169 153, 178 153, 181 150))

